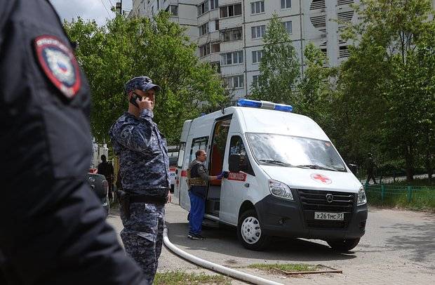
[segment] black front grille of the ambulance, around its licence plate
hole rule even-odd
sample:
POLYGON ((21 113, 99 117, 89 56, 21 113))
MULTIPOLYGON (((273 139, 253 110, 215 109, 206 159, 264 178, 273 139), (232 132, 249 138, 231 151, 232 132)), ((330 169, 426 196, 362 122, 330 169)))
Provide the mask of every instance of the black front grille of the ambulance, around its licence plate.
POLYGON ((307 227, 321 229, 345 229, 348 227, 354 210, 354 193, 302 189, 297 190, 297 193, 307 227), (333 195, 332 202, 327 201, 327 194, 333 195), (344 213, 344 220, 315 220, 314 212, 344 213))

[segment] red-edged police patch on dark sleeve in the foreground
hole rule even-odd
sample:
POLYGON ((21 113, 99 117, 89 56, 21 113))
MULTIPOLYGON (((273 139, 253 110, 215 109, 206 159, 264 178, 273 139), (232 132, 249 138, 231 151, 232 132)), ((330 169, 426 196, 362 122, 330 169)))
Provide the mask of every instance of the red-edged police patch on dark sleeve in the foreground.
POLYGON ((60 39, 43 35, 34 39, 36 56, 44 73, 65 95, 72 99, 80 89, 80 70, 71 49, 60 39))

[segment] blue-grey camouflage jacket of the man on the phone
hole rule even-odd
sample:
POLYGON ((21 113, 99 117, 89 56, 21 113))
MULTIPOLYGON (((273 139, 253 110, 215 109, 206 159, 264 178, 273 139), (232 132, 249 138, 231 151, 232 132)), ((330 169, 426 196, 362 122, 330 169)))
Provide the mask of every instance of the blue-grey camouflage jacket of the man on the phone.
POLYGON ((168 149, 152 118, 153 112, 146 109, 139 118, 125 112, 112 125, 109 136, 119 157, 123 190, 162 196, 170 185, 168 149))

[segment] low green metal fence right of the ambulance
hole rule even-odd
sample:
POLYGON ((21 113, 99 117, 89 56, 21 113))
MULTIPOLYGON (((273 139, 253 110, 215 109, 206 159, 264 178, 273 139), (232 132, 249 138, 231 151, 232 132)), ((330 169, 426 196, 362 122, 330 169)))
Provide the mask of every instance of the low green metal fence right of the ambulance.
POLYGON ((435 187, 366 184, 369 204, 435 208, 435 187))

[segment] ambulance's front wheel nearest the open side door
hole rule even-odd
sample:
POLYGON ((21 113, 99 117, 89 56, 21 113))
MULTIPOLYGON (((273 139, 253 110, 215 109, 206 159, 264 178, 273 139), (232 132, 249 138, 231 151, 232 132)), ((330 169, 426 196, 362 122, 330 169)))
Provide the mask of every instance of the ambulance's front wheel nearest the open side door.
POLYGON ((237 223, 237 237, 241 244, 251 251, 265 249, 269 237, 264 234, 255 210, 249 209, 241 214, 237 223))

